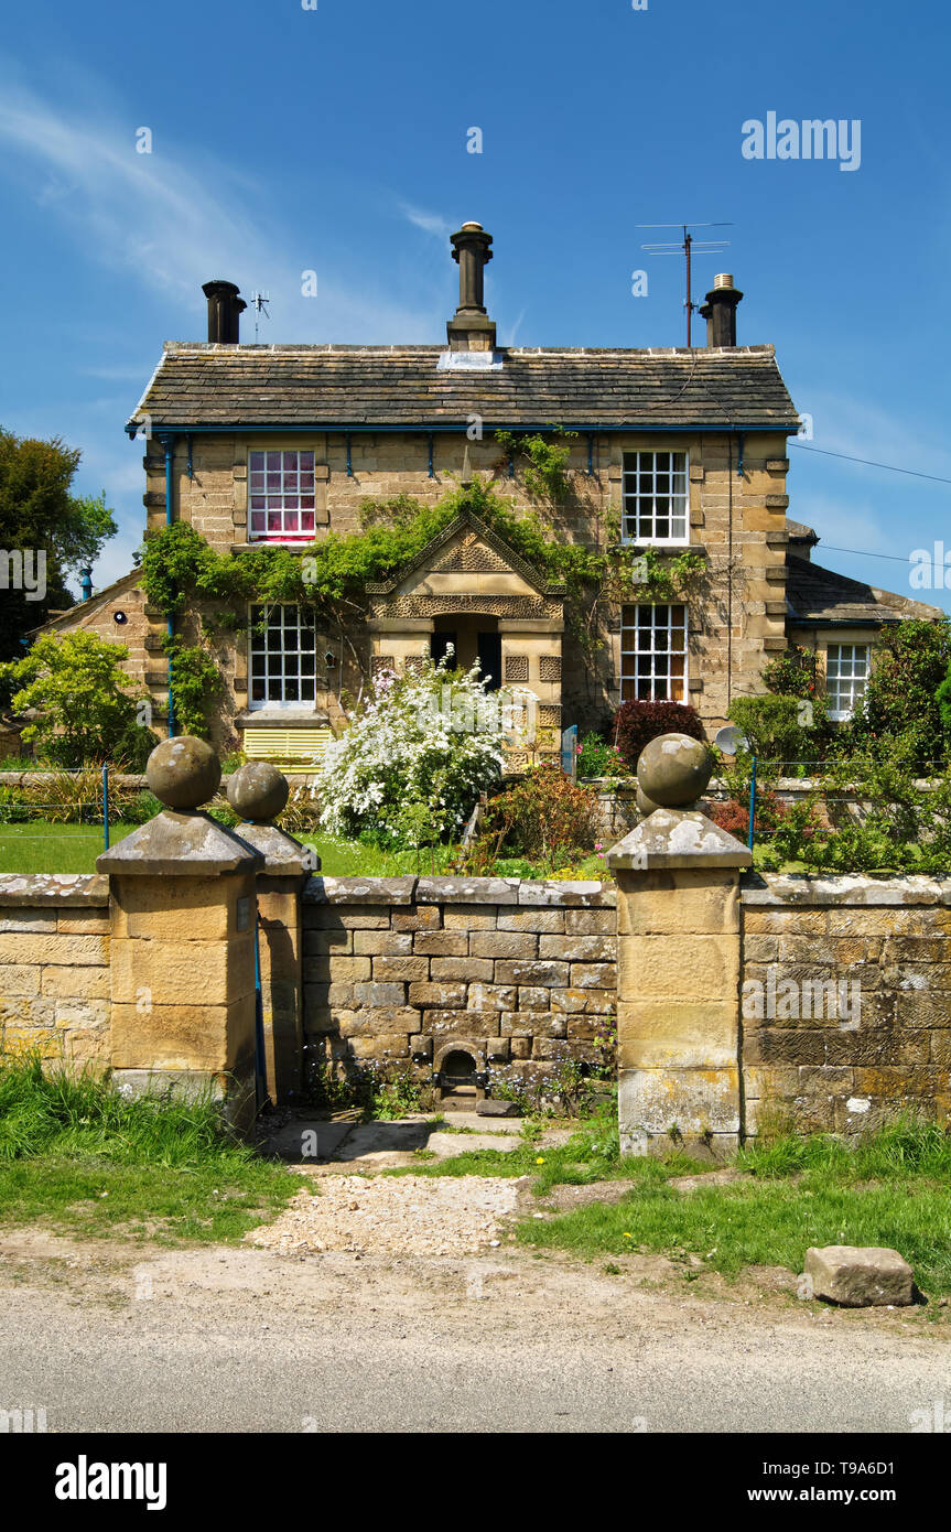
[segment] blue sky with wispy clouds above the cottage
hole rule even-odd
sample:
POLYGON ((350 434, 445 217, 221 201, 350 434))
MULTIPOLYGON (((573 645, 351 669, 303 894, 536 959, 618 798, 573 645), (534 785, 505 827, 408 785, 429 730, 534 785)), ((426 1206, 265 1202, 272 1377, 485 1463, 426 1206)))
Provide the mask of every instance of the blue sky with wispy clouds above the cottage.
MULTIPOLYGON (((123 423, 162 340, 204 339, 208 277, 270 293, 262 340, 441 342, 478 219, 502 343, 683 345, 681 262, 640 250, 674 231, 639 225, 723 219, 695 290, 735 273, 812 446, 951 480, 949 37, 937 0, 8 0, 0 423, 83 449, 121 522, 103 585, 141 541, 123 423), (859 119, 859 169, 744 158, 767 112, 859 119)), ((951 610, 907 562, 951 548, 951 484, 790 458, 828 567, 951 610)))

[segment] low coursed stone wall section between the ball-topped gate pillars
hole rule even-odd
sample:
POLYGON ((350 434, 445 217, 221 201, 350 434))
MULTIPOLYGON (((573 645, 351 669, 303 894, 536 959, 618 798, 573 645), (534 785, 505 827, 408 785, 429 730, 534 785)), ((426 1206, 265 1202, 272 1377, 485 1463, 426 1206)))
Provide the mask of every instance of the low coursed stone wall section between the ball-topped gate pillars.
POLYGON ((337 1071, 397 1060, 420 1077, 466 1045, 505 1075, 593 1060, 616 1010, 614 904, 600 882, 312 878, 305 1040, 337 1071))

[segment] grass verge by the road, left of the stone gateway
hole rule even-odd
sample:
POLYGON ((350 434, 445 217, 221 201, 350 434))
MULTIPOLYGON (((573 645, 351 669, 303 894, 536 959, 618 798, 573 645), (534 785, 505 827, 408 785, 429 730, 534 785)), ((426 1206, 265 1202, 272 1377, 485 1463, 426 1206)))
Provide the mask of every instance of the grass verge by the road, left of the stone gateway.
POLYGON ((0 1223, 224 1242, 299 1190, 300 1177, 222 1129, 211 1102, 126 1100, 37 1059, 0 1065, 0 1223))

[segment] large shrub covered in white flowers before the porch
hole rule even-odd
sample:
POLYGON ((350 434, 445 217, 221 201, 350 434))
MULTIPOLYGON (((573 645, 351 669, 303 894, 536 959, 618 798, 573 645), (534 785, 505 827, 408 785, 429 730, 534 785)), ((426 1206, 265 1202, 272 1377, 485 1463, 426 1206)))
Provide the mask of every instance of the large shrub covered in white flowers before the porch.
POLYGON ((374 830, 421 844, 461 829, 502 769, 511 697, 469 673, 424 659, 417 671, 374 679, 369 699, 323 754, 320 823, 332 835, 374 830))

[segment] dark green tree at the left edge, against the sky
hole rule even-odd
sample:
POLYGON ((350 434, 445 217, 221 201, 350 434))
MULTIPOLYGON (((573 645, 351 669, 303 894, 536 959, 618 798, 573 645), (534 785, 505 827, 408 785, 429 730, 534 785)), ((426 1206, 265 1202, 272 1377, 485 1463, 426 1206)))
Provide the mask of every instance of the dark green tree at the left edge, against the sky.
POLYGON ((101 495, 72 495, 81 453, 58 437, 37 441, 0 427, 0 660, 51 608, 74 605, 69 574, 92 564, 116 532, 101 495))

